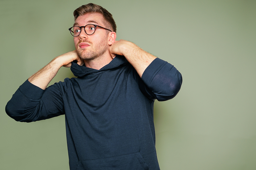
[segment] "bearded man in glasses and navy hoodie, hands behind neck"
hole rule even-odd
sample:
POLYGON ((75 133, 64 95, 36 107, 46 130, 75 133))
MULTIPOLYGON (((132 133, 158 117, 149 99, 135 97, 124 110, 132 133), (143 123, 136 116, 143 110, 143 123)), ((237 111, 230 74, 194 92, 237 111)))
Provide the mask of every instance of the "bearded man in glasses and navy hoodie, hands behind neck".
POLYGON ((134 43, 115 41, 115 21, 101 6, 83 5, 74 17, 76 50, 29 77, 6 113, 20 122, 65 114, 70 169, 159 169, 153 104, 178 93, 181 74, 134 43), (77 78, 46 88, 62 66, 77 78))

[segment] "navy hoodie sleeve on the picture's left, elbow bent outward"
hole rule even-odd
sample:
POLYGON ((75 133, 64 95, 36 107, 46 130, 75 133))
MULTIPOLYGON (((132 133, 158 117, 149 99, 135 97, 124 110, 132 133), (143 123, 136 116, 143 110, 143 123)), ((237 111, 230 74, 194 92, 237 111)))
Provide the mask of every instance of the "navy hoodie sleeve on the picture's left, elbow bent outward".
POLYGON ((45 90, 26 80, 8 101, 5 112, 19 122, 34 122, 64 114, 60 85, 45 90))

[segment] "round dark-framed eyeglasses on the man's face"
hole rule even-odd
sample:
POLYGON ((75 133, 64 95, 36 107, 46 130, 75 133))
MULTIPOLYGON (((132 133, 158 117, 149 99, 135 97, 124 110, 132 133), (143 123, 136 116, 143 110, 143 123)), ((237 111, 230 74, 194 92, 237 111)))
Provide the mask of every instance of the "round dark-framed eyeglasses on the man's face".
POLYGON ((104 27, 98 26, 98 25, 94 25, 94 24, 87 24, 86 26, 72 26, 71 28, 68 28, 68 30, 70 31, 71 35, 73 35, 74 37, 77 37, 82 31, 82 27, 84 27, 84 32, 87 35, 92 35, 95 32, 96 27, 103 28, 105 30, 112 32, 111 30, 109 30, 107 28, 104 28, 104 27))

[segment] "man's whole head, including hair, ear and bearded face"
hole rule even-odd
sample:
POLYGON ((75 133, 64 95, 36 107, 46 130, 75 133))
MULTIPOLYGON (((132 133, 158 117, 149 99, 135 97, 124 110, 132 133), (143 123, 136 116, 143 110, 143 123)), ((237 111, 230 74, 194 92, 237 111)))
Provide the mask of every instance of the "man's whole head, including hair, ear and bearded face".
MULTIPOLYGON (((101 6, 90 3, 77 8, 74 11, 74 17, 74 26, 78 28, 77 31, 79 32, 78 36, 72 34, 77 54, 84 60, 109 56, 108 49, 116 39, 116 23, 112 15, 101 6), (88 24, 90 30, 87 27, 88 24), (92 25, 95 25, 95 27, 92 25), (95 32, 91 34, 91 30, 95 32)), ((74 31, 73 27, 70 32, 74 33, 74 31)))

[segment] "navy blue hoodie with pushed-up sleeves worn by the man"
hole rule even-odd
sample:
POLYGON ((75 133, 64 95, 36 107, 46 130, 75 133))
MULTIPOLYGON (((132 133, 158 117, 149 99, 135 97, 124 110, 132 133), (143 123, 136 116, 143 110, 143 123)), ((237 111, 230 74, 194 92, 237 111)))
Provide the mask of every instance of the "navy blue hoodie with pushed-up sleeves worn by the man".
POLYGON ((65 115, 71 170, 157 170, 154 100, 172 99, 181 74, 156 58, 142 78, 117 55, 95 70, 72 63, 77 78, 45 90, 24 82, 6 105, 20 122, 65 115))

